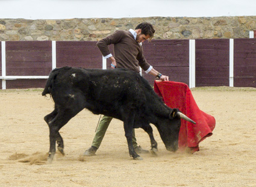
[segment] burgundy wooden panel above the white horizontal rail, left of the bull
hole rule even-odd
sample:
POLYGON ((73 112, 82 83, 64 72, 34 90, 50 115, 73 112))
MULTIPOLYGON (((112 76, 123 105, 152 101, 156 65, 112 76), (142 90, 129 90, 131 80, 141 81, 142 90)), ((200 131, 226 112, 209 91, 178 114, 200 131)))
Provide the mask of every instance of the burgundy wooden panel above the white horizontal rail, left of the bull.
POLYGON ((6 41, 5 47, 7 76, 40 76, 51 72, 51 41, 6 41))

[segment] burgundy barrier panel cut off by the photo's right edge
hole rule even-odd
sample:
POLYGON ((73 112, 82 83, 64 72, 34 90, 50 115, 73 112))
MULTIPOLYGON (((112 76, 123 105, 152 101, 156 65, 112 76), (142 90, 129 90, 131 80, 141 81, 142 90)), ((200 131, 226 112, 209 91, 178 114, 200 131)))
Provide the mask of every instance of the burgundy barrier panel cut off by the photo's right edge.
POLYGON ((256 38, 234 39, 234 87, 256 87, 256 38))

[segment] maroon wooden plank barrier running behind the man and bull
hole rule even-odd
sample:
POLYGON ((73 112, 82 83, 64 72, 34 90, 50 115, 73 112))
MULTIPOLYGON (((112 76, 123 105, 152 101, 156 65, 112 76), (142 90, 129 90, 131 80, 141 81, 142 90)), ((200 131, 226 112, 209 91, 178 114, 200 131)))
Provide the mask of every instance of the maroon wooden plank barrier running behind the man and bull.
MULTIPOLYGON (((6 75, 49 75, 52 41, 6 41, 6 75)), ((196 87, 229 86, 229 39, 196 40, 196 87)), ((1 48, 1 45, 0 45, 1 48)), ((152 40, 143 43, 146 60, 170 81, 189 84, 189 40, 152 40)), ((113 53, 113 45, 110 46, 113 53)), ((102 69, 96 41, 57 41, 57 67, 102 69)), ((1 63, 0 55, 0 63, 1 63)), ((256 87, 256 38, 234 39, 234 86, 256 87)), ((111 61, 107 60, 107 69, 111 61)), ((2 71, 2 66, 0 66, 2 71)), ((143 72, 151 85, 154 76, 143 72)), ((46 79, 7 80, 7 88, 44 87, 46 79)), ((0 81, 0 85, 2 82, 0 81)))

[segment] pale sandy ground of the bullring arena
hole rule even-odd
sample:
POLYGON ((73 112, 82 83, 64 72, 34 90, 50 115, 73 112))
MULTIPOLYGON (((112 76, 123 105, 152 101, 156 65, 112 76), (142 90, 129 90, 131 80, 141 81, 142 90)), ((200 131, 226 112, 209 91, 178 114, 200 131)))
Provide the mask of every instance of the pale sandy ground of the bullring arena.
MULTIPOLYGON (((193 88, 199 108, 216 118, 213 135, 193 155, 164 148, 158 156, 128 154, 122 121, 113 120, 96 156, 84 157, 99 115, 84 110, 60 133, 65 156, 46 164, 48 125, 54 103, 42 90, 0 90, 0 186, 256 186, 256 88, 193 88)), ((136 129, 137 142, 150 149, 136 129)))

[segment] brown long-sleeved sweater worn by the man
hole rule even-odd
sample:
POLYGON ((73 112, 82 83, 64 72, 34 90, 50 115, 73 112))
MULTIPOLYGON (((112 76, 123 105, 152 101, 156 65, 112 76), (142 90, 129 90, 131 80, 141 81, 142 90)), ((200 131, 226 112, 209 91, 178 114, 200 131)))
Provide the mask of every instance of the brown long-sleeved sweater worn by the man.
POLYGON ((125 68, 140 72, 139 66, 143 70, 148 70, 150 65, 146 62, 143 49, 130 31, 118 30, 113 34, 99 40, 97 46, 105 57, 110 53, 108 45, 114 44, 114 58, 117 68, 125 68))

